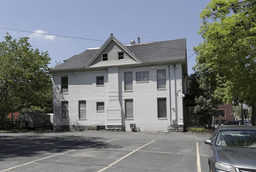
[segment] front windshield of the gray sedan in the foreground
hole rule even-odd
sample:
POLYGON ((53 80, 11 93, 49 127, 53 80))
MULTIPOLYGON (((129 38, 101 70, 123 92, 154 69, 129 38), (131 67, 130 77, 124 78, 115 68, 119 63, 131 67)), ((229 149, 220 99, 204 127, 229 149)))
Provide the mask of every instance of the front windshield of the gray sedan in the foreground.
POLYGON ((215 141, 216 146, 256 148, 256 130, 229 129, 220 130, 215 141))

